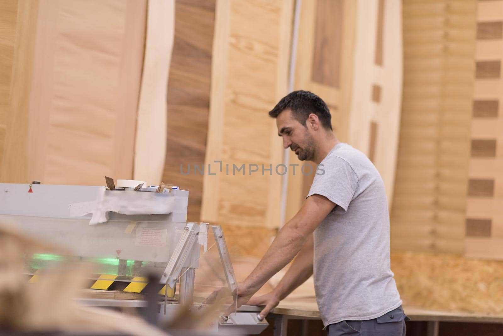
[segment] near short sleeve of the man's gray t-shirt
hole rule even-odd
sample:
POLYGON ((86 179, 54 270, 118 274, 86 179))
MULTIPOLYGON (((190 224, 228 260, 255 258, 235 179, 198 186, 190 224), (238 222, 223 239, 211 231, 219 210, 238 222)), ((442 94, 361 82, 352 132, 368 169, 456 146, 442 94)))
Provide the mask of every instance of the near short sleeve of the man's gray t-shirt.
POLYGON ((318 194, 337 204, 346 212, 358 187, 358 177, 344 159, 329 155, 323 159, 306 198, 318 194))

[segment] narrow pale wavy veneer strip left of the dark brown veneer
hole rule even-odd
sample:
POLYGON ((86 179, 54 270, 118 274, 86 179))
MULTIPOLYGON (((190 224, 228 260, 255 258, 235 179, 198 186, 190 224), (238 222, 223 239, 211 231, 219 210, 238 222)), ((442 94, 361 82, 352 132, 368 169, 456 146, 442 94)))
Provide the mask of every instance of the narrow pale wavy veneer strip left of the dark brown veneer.
POLYGON ((163 182, 166 155, 166 91, 173 53, 175 0, 149 0, 145 56, 136 117, 133 180, 163 182), (155 143, 155 146, 152 144, 155 143))

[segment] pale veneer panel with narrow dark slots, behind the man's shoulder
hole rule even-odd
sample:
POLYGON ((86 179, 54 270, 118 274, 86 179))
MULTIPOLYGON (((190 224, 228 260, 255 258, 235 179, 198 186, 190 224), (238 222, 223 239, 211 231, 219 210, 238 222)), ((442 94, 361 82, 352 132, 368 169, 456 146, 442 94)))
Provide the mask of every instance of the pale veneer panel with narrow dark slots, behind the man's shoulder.
MULTIPOLYGON (((405 20, 403 21, 405 24, 405 20)), ((379 126, 373 163, 381 175, 391 206, 397 159, 402 100, 402 2, 358 1, 353 96, 348 143, 370 155, 372 121, 379 126), (379 9, 379 5, 382 6, 379 9), (379 20, 383 11, 382 41, 379 20), (376 44, 382 43, 382 65, 375 64, 376 44), (373 88, 373 86, 376 88, 373 88), (380 87, 381 90, 377 89, 380 87), (373 95, 372 95, 373 93, 373 95), (376 101, 379 101, 376 104, 376 101), (362 132, 364 125, 365 132, 362 132), (365 126, 367 125, 367 126, 365 126)))

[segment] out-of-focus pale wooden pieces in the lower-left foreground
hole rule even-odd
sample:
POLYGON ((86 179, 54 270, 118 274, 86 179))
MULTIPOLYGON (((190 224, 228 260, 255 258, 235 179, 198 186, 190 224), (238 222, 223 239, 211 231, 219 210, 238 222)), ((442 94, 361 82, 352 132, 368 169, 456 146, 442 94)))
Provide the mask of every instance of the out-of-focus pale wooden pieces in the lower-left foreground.
POLYGON ((166 335, 141 318, 79 306, 74 298, 86 279, 81 265, 51 270, 35 283, 28 283, 23 274, 25 256, 41 250, 65 254, 61 249, 0 228, 0 329, 166 335))

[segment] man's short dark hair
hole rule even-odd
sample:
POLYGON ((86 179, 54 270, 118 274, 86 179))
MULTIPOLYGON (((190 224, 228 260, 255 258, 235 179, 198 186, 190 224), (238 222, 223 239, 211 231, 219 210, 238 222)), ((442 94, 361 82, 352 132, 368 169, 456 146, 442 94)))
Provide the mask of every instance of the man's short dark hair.
POLYGON ((274 109, 269 111, 269 115, 277 118, 286 109, 292 110, 293 117, 304 126, 306 126, 307 117, 314 113, 324 129, 332 129, 332 116, 328 106, 312 92, 299 90, 289 93, 276 104, 274 109))

